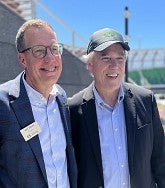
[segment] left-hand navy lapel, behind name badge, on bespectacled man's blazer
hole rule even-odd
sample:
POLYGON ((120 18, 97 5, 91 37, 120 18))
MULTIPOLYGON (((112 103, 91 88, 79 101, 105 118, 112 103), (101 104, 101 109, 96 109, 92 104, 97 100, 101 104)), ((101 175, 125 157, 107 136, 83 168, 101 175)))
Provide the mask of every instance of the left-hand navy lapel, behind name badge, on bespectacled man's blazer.
MULTIPOLYGON (((22 78, 20 78, 20 92, 19 97, 16 98, 13 95, 10 95, 10 104, 12 106, 12 109, 17 117, 17 120, 20 124, 20 129, 30 125, 34 122, 34 117, 30 105, 29 98, 27 96, 26 89, 24 87, 22 78)), ((18 90, 19 91, 19 90, 18 90)), ((41 168, 41 171, 43 173, 43 176, 45 180, 47 181, 46 177, 46 170, 42 155, 42 150, 40 146, 40 141, 38 135, 27 141, 27 143, 30 145, 38 163, 41 168)))

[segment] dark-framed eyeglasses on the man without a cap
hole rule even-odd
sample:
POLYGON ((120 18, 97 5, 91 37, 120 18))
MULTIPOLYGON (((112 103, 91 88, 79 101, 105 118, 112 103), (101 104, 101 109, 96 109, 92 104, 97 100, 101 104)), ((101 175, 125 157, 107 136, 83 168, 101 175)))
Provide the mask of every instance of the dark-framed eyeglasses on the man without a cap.
POLYGON ((62 55, 63 45, 61 43, 53 43, 51 46, 36 45, 29 47, 25 50, 22 50, 20 53, 24 53, 28 50, 31 50, 35 58, 42 59, 46 56, 48 48, 52 55, 54 56, 58 56, 59 54, 62 55))

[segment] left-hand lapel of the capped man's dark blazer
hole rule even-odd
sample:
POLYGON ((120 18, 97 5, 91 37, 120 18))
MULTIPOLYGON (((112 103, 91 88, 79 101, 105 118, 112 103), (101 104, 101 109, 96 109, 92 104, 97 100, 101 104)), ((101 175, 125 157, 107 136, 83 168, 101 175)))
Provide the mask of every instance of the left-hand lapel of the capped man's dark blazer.
POLYGON ((101 176, 103 177, 100 139, 99 139, 96 107, 95 107, 95 100, 94 100, 93 91, 92 91, 92 85, 88 87, 83 98, 85 102, 82 104, 82 111, 83 111, 86 126, 87 126, 86 128, 89 133, 88 136, 92 145, 93 153, 95 155, 96 163, 99 167, 101 176))

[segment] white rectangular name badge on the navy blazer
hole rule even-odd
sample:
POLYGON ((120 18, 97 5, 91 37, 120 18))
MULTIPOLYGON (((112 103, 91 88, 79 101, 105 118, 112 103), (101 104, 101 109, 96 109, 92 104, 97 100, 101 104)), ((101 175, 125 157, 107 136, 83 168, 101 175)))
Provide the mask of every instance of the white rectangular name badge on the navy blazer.
POLYGON ((21 129, 20 132, 21 132, 23 138, 25 139, 25 141, 28 141, 31 138, 33 138, 34 136, 36 136, 37 134, 39 134, 41 132, 41 128, 37 122, 33 122, 32 124, 28 125, 27 127, 21 129))

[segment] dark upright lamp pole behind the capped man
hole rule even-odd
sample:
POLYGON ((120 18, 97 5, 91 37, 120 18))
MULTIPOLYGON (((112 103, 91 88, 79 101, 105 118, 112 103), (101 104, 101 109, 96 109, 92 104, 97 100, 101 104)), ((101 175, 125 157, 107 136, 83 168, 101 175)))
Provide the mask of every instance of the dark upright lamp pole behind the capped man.
MULTIPOLYGON (((128 17, 129 17, 129 11, 128 11, 128 7, 125 7, 125 40, 128 41, 129 40, 129 36, 128 36, 128 17)), ((126 64, 125 64, 125 81, 128 82, 128 57, 126 60, 126 64)))

